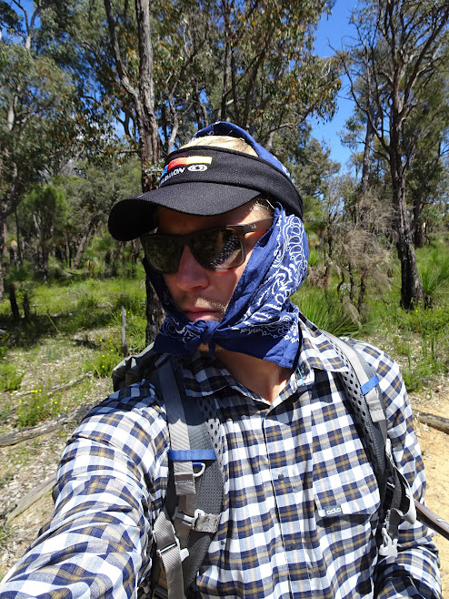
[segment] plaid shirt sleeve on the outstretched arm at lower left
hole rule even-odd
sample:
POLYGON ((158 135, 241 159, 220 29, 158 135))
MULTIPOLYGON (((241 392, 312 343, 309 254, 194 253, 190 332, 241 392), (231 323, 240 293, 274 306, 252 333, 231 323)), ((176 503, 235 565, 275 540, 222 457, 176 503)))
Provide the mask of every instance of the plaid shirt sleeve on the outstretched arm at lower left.
POLYGON ((166 489, 161 414, 148 383, 88 414, 63 454, 53 519, 6 575, 0 597, 136 596, 166 489))

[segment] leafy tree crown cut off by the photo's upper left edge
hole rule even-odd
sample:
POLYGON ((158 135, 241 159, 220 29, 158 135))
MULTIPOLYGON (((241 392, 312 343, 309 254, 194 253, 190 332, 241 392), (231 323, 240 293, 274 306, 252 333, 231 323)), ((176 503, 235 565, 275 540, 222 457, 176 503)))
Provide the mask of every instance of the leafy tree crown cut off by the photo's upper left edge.
MULTIPOLYGON (((0 5, 0 257, 6 218, 37 182, 61 168, 77 139, 70 79, 36 45, 42 6, 28 13, 16 0, 16 13, 12 5, 0 5)), ((3 276, 0 259, 0 300, 3 276)))

